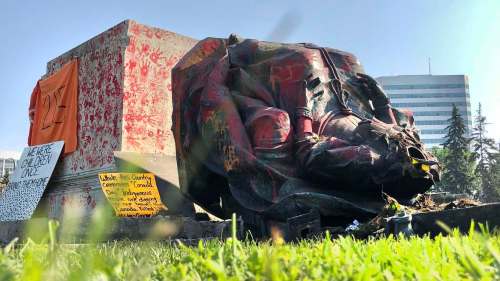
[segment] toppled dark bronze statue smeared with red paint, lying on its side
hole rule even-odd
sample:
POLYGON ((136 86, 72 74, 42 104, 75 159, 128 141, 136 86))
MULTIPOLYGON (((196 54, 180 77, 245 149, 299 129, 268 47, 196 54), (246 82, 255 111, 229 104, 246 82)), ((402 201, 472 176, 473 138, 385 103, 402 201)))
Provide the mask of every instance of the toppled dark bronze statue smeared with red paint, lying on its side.
POLYGON ((405 202, 439 180, 412 114, 352 54, 207 38, 172 80, 181 190, 218 217, 262 231, 345 225, 375 217, 382 193, 405 202))

